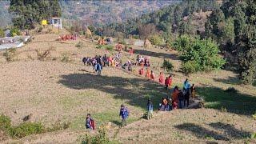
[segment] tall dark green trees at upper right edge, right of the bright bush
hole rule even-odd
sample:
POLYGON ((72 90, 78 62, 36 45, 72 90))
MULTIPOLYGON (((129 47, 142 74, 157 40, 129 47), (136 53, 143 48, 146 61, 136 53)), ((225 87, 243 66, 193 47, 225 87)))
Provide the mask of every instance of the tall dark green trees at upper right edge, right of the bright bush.
POLYGON ((210 15, 206 36, 214 38, 226 51, 229 65, 238 71, 242 83, 256 79, 256 3, 229 1, 210 15))

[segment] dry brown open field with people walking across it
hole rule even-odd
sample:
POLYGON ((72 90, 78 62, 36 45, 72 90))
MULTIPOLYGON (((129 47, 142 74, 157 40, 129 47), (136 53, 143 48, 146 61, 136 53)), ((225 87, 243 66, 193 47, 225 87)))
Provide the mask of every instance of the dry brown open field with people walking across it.
MULTIPOLYGON (((0 113, 10 116, 14 125, 32 114, 32 122, 50 126, 60 120, 71 122, 68 130, 31 135, 19 140, 7 138, 5 142, 78 142, 80 135, 87 134, 84 122, 90 113, 97 126, 111 122, 107 132, 124 143, 136 142, 254 142, 247 139, 256 132, 256 121, 251 114, 256 110, 256 87, 239 85, 238 75, 226 70, 209 74, 192 74, 190 82, 197 86, 197 93, 204 97, 206 109, 175 110, 158 113, 150 121, 144 120, 146 98, 150 96, 157 109, 161 98, 170 95, 157 82, 150 82, 133 73, 112 67, 103 68, 102 76, 93 68, 82 65, 82 57, 96 54, 112 54, 98 50, 87 39, 58 42, 57 34, 41 34, 17 50, 14 62, 6 62, 0 55, 0 113), (84 46, 75 45, 83 42, 84 46), (38 61, 35 50, 54 47, 46 61, 38 61), (62 62, 63 54, 70 62, 62 62), (238 93, 227 93, 228 87, 238 93), (118 130, 119 106, 125 103, 130 110, 130 125, 118 130), (14 113, 15 112, 15 113, 14 113)), ((143 49, 134 46, 134 56, 122 52, 122 61, 134 59, 137 54, 150 56, 155 74, 162 70, 163 58, 174 64, 174 86, 182 86, 186 77, 179 72, 177 52, 156 48, 143 49)), ((1 138, 0 138, 1 139, 1 138)))

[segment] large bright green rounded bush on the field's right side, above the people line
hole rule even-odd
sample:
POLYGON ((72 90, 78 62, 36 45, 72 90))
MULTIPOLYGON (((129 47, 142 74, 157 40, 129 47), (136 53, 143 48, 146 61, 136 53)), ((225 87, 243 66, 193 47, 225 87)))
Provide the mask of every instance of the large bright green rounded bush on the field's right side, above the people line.
POLYGON ((174 48, 179 51, 179 58, 183 65, 182 69, 186 74, 218 70, 226 63, 218 54, 217 43, 211 39, 194 39, 182 36, 174 42, 174 48))

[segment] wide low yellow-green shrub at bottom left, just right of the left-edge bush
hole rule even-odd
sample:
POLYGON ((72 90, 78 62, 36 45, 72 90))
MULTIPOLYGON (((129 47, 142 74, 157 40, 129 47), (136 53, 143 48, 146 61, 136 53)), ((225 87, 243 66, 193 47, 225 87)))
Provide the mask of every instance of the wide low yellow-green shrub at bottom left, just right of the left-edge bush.
POLYGON ((44 132, 44 126, 41 123, 25 122, 21 125, 10 127, 8 134, 12 138, 23 138, 30 134, 41 134, 44 132))

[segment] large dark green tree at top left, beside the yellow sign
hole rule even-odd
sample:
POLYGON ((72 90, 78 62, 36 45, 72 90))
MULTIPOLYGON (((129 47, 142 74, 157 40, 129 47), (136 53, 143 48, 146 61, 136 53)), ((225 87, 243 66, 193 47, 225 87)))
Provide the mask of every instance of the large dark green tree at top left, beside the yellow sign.
POLYGON ((14 14, 14 26, 22 30, 33 29, 42 19, 61 16, 58 0, 10 0, 9 12, 14 14))

